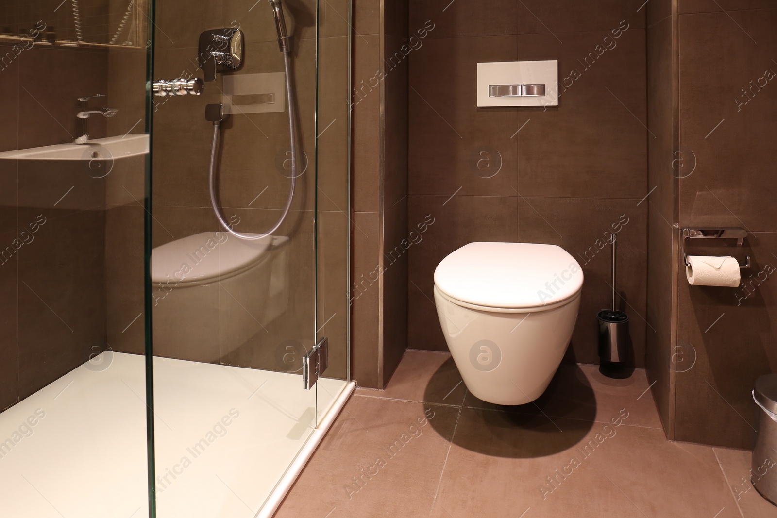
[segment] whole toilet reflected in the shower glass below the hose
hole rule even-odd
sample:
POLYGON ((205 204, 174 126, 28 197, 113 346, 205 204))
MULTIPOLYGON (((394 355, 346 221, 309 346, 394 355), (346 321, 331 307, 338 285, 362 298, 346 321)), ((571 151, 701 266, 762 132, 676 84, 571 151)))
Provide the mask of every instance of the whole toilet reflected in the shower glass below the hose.
POLYGON ((154 354, 218 362, 288 306, 289 238, 201 232, 152 250, 154 354))

